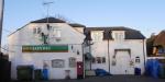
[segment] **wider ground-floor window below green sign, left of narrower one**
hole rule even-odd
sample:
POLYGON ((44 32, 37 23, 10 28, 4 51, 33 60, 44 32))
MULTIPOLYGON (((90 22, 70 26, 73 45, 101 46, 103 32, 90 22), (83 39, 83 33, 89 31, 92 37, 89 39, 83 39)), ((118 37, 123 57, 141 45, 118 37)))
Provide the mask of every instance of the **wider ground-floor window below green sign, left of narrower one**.
POLYGON ((64 68, 65 62, 63 59, 54 59, 52 60, 52 68, 64 68))

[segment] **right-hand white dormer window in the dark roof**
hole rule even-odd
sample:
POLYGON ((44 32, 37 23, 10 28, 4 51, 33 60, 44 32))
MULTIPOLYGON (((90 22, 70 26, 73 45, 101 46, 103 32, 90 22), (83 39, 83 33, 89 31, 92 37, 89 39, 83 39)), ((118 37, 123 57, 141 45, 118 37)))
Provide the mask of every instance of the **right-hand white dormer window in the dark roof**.
POLYGON ((123 40, 124 39, 124 32, 123 31, 113 31, 113 39, 114 40, 123 40))

